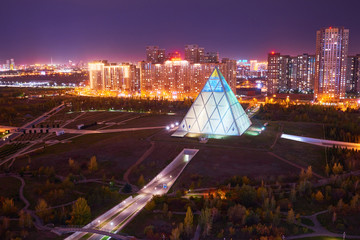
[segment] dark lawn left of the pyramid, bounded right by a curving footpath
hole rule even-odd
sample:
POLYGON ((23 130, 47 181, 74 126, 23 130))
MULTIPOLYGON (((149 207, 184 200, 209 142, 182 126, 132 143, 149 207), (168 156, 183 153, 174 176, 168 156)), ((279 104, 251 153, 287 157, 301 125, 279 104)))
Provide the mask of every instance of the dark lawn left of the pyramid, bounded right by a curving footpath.
MULTIPOLYGON (((159 130, 83 135, 68 143, 58 143, 31 153, 30 169, 53 166, 57 175, 67 176, 71 171, 68 159, 72 158, 89 178, 102 178, 105 174, 119 179, 150 147, 145 138, 157 131, 159 130), (86 167, 92 156, 96 156, 99 165, 99 170, 95 173, 89 173, 86 167)), ((27 157, 19 158, 13 168, 19 170, 27 163, 27 157)))

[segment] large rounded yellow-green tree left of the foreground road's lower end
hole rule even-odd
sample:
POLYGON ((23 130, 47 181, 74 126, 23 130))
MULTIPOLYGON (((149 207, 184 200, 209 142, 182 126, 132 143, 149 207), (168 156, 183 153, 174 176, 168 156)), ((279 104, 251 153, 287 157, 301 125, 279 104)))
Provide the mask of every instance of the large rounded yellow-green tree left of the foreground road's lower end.
POLYGON ((91 219, 90 207, 85 198, 78 198, 72 206, 71 225, 85 225, 91 219))

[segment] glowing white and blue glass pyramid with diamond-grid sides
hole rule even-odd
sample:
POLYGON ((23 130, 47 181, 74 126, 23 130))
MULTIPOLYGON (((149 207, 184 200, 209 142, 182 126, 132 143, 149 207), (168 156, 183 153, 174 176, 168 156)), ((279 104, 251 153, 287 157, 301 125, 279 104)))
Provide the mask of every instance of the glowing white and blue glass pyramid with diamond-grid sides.
POLYGON ((216 67, 172 136, 243 134, 251 121, 216 67))

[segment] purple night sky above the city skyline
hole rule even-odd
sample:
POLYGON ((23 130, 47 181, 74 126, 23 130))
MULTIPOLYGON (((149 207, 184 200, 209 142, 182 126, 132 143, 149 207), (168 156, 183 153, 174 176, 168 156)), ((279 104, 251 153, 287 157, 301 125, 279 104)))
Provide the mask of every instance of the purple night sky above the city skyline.
POLYGON ((145 46, 183 52, 197 43, 220 57, 263 59, 315 52, 316 30, 350 29, 360 53, 359 0, 4 0, 0 63, 139 61, 145 46))

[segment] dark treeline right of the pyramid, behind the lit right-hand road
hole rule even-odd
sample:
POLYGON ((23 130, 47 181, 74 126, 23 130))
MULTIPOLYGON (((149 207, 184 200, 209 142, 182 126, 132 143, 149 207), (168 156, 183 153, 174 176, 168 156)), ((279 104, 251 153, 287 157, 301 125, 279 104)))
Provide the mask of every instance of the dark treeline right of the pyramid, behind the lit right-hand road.
POLYGON ((257 118, 272 121, 318 122, 325 124, 325 137, 347 142, 360 142, 359 110, 341 111, 321 105, 261 105, 257 118))

